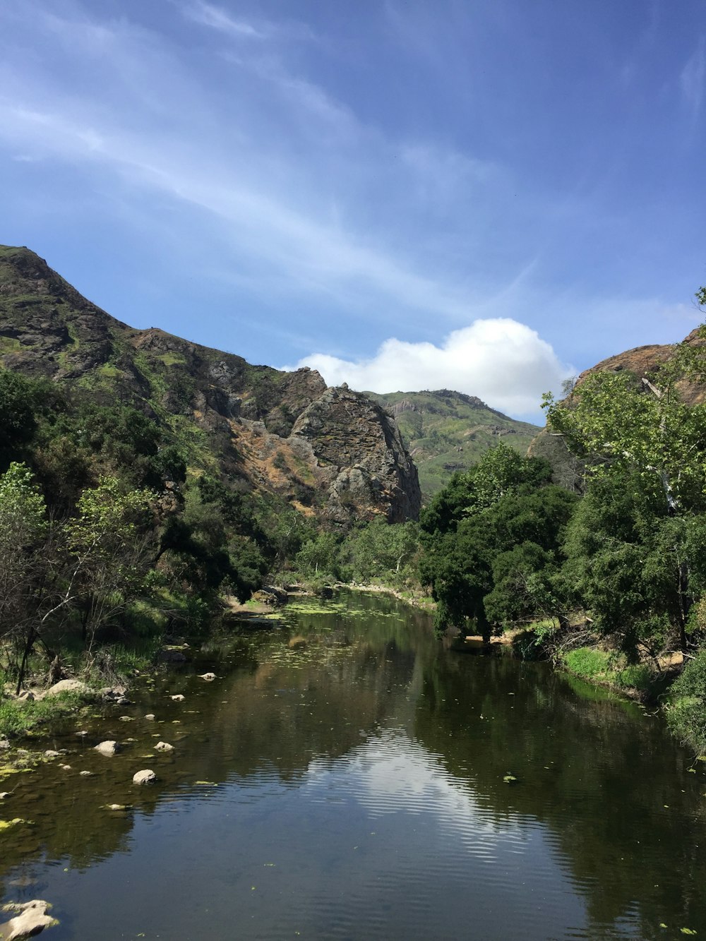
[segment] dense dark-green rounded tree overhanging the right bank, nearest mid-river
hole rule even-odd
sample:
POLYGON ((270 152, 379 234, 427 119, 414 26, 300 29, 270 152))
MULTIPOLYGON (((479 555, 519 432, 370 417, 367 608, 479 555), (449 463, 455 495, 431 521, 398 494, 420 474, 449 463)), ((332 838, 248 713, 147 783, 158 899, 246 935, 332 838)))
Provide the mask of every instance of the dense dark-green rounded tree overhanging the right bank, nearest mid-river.
POLYGON ((440 630, 471 620, 489 638, 503 624, 561 613, 558 550, 576 498, 550 476, 545 461, 501 445, 425 508, 420 578, 440 630))

